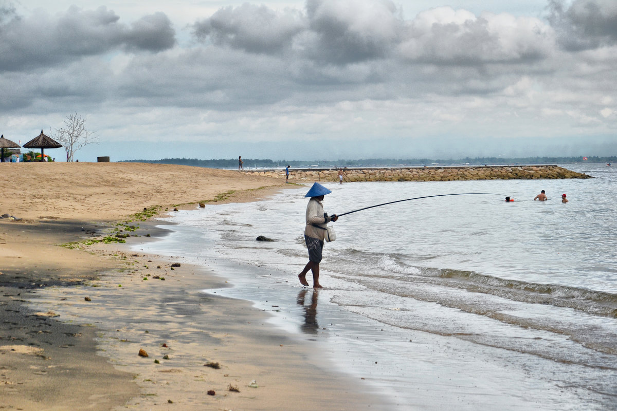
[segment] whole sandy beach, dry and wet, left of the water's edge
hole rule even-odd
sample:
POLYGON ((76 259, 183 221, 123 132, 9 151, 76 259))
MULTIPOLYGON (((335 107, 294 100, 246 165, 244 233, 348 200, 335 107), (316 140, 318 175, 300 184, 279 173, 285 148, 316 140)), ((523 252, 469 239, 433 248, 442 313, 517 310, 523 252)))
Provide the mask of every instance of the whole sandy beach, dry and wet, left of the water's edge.
POLYGON ((0 169, 0 214, 16 218, 0 219, 0 408, 379 409, 267 313, 199 293, 224 287, 224 272, 84 243, 120 230, 151 241, 165 230, 135 214, 264 198, 281 179, 143 163, 0 169))

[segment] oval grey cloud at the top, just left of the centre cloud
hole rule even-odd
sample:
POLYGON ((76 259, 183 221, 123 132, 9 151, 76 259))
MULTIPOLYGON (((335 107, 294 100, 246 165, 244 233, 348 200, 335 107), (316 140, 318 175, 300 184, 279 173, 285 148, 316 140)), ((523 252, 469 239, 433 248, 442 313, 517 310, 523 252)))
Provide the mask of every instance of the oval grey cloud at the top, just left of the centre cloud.
POLYGON ((248 3, 223 7, 193 25, 197 39, 210 38, 218 46, 265 54, 289 49, 294 36, 303 30, 305 21, 297 11, 276 13, 266 6, 248 3))

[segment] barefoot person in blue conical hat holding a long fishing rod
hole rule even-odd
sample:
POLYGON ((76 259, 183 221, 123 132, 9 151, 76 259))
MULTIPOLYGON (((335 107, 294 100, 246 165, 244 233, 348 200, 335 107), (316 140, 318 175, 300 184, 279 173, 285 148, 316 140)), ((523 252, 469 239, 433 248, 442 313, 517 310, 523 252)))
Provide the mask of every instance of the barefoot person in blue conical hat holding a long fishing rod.
POLYGON ((310 197, 306 212, 306 226, 304 227, 304 241, 309 250, 309 262, 298 274, 298 279, 300 284, 309 285, 306 275, 310 270, 313 273, 313 288, 323 288, 319 283, 319 263, 323 251, 323 239, 326 237, 326 224, 338 219, 336 214, 328 217, 328 214, 323 212, 321 201, 329 193, 331 193, 331 190, 316 182, 304 196, 310 197))

